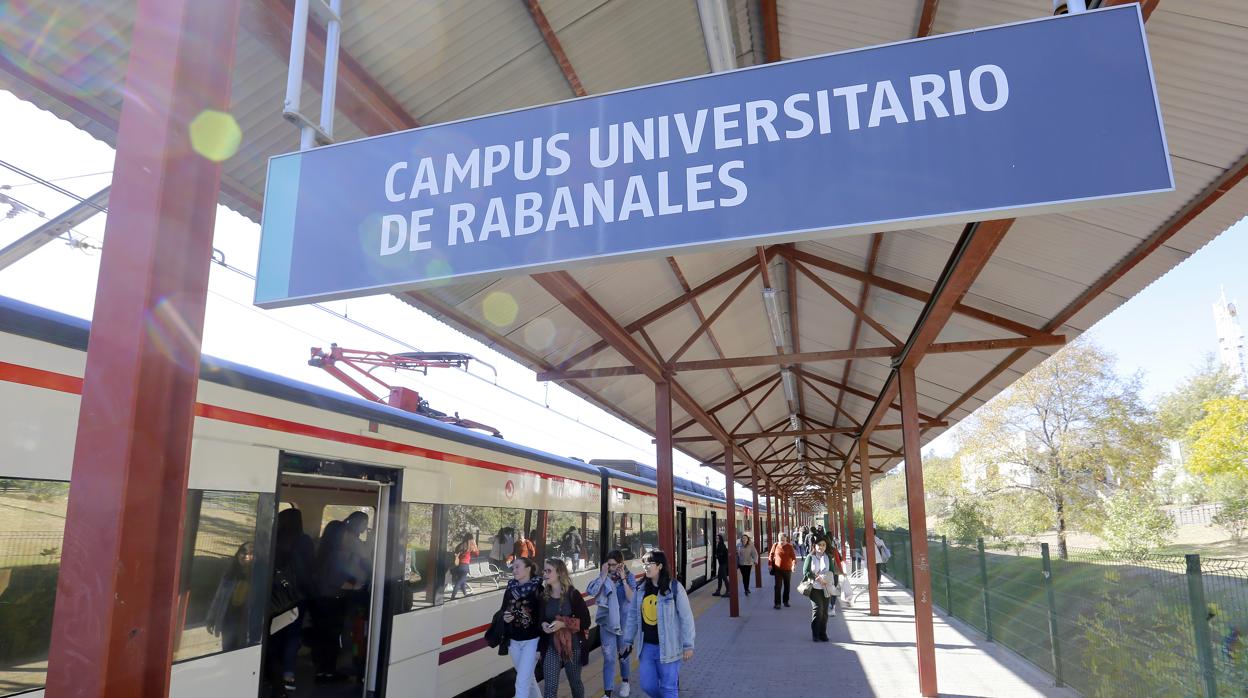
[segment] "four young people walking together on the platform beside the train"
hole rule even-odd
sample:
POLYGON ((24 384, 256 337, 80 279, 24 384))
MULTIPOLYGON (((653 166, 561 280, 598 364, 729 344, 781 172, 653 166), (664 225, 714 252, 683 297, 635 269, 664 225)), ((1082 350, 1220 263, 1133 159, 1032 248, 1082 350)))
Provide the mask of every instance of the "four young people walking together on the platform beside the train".
MULTIPOLYGON (((585 589, 598 608, 603 689, 607 696, 628 698, 629 658, 636 648, 641 691, 651 698, 676 698, 680 664, 694 653, 693 608, 663 551, 643 556, 641 572, 641 578, 635 578, 623 553, 612 551, 585 589)), ((572 694, 582 698, 580 667, 588 662, 589 626, 589 608, 563 558, 547 559, 538 579, 537 563, 517 557, 487 639, 510 656, 518 698, 554 698, 560 672, 568 677, 572 694), (535 681, 539 666, 544 693, 535 681)))

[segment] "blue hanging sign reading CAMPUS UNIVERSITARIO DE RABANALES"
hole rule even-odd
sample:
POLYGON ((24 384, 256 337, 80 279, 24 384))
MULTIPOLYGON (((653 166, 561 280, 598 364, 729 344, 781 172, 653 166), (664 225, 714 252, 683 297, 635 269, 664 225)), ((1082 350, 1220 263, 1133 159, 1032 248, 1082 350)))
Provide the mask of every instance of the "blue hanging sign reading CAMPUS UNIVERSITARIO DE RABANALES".
POLYGON ((256 303, 1174 187, 1137 5, 273 157, 256 303))

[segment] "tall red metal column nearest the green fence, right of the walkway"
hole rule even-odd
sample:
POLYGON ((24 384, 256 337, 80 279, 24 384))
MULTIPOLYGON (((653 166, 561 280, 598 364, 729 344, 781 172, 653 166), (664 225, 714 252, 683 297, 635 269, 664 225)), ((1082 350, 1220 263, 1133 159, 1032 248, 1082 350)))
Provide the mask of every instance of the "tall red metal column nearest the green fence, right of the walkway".
POLYGON ((919 395, 915 367, 899 370, 901 433, 906 460, 906 503, 910 508, 910 551, 915 592, 915 644, 919 652, 919 692, 936 696, 936 646, 932 634, 932 581, 927 563, 927 507, 924 503, 924 462, 919 452, 919 395))

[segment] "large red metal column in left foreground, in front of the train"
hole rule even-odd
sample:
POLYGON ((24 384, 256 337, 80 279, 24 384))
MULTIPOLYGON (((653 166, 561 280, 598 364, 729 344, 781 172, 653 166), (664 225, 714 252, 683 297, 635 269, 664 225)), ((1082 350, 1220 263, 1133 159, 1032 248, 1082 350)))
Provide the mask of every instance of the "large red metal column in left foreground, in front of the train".
POLYGON ((168 694, 220 162, 191 121, 230 101, 238 0, 140 0, 96 288, 47 696, 168 694))

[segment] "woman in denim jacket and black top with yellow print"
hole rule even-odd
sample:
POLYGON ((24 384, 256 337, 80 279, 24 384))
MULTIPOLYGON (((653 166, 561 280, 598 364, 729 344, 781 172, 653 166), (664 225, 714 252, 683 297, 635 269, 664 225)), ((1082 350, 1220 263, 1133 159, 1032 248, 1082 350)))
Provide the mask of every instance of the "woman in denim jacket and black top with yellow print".
POLYGON ((685 588, 671 578, 666 553, 653 549, 641 557, 641 566, 645 583, 628 614, 622 654, 639 644, 641 691, 650 698, 678 698, 680 664, 694 657, 694 612, 685 588))

